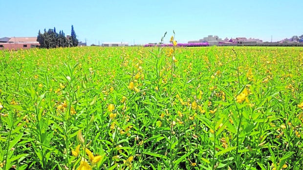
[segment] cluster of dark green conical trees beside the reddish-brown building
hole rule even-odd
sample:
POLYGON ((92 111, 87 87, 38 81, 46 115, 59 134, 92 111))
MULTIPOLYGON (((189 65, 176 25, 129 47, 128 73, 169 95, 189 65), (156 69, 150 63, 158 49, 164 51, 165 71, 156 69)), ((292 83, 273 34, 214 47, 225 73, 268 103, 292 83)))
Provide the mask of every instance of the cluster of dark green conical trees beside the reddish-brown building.
POLYGON ((59 33, 54 29, 44 29, 42 34, 39 30, 37 41, 40 43, 40 48, 57 48, 57 47, 73 47, 78 46, 78 39, 74 31, 74 26, 71 25, 71 34, 66 37, 63 30, 60 30, 59 33))

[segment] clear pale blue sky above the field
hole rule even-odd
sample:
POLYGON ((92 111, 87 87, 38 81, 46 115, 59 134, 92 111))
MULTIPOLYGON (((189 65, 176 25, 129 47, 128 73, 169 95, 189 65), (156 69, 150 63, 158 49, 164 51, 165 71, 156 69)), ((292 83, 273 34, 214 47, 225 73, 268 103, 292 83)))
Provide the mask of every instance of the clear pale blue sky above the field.
POLYGON ((56 27, 98 44, 179 43, 207 35, 279 41, 303 34, 303 0, 0 0, 0 38, 56 27))

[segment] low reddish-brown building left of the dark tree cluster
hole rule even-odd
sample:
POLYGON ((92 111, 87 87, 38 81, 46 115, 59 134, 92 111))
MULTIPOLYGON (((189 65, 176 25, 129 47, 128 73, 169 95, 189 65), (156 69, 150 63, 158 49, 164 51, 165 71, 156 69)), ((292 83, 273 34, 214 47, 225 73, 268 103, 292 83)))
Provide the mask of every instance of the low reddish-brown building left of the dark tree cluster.
POLYGON ((39 46, 37 37, 3 37, 0 38, 0 49, 29 49, 39 46))

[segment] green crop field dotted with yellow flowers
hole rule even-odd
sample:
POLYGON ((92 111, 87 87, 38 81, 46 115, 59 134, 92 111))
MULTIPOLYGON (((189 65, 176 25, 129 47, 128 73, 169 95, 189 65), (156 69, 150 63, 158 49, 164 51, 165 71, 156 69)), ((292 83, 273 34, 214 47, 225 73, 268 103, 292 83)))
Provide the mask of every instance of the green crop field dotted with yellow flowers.
POLYGON ((0 51, 2 170, 302 170, 302 47, 0 51))

